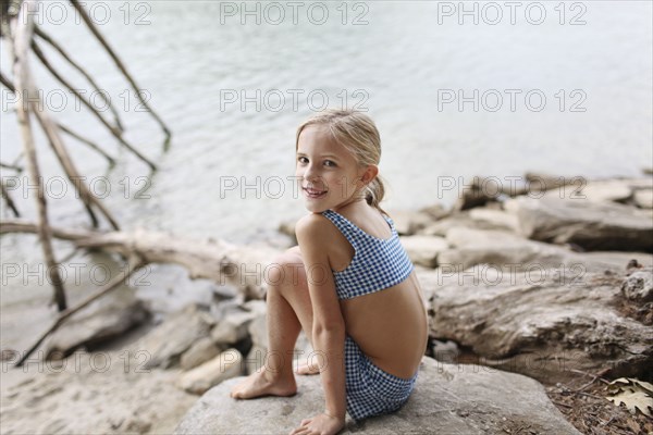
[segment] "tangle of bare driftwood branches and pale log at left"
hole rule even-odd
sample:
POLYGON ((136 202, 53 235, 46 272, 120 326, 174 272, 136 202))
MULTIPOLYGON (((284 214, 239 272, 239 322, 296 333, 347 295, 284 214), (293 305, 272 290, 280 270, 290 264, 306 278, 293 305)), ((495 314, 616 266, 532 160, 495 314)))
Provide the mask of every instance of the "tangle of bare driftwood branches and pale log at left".
MULTIPOLYGON (((141 94, 138 90, 136 82, 127 73, 125 65, 122 63, 118 54, 111 49, 109 44, 100 35, 94 23, 90 21, 88 14, 82 7, 82 4, 75 0, 70 0, 73 8, 79 13, 90 32, 99 40, 101 46, 107 50, 111 59, 114 61, 123 76, 127 79, 140 103, 149 111, 155 120, 162 127, 165 134, 163 149, 167 150, 170 144, 170 130, 157 113, 149 107, 147 101, 144 100, 141 94)), ((56 322, 36 340, 32 348, 23 356, 19 361, 17 365, 22 365, 26 358, 42 343, 42 340, 57 330, 66 319, 73 313, 83 309, 84 307, 91 303, 94 300, 107 295, 112 289, 118 288, 122 279, 125 276, 111 281, 109 284, 100 288, 94 295, 87 297, 81 303, 73 308, 67 308, 65 293, 63 288, 63 282, 60 275, 60 269, 54 258, 54 251, 52 248, 52 236, 59 237, 72 241, 77 248, 88 249, 103 249, 111 252, 119 252, 127 259, 127 276, 134 271, 143 268, 144 265, 151 262, 172 262, 187 266, 190 270, 192 277, 208 277, 214 278, 219 282, 234 282, 238 281, 241 276, 245 276, 245 273, 241 273, 242 269, 239 264, 246 264, 246 261, 242 256, 242 251, 238 251, 234 247, 225 244, 211 244, 210 246, 186 243, 184 245, 177 239, 171 240, 164 235, 145 235, 138 234, 124 234, 119 233, 120 226, 118 221, 111 215, 109 210, 103 207, 99 198, 97 198, 89 189, 82 183, 75 183, 78 179, 83 179, 79 176, 73 159, 69 153, 61 133, 65 133, 72 136, 76 140, 87 145, 93 150, 99 152, 104 157, 110 166, 114 166, 114 159, 112 159, 101 147, 96 145, 94 141, 83 137, 75 133, 73 129, 65 125, 62 125, 54 121, 48 113, 48 109, 41 104, 38 99, 27 98, 27 96, 38 95, 37 86, 33 80, 33 76, 29 72, 28 58, 29 53, 33 52, 46 70, 65 88, 73 92, 84 103, 84 107, 88 109, 99 122, 111 133, 111 135, 118 139, 121 146, 132 151, 138 159, 149 165, 151 170, 156 170, 157 166, 152 161, 141 154, 135 147, 130 145, 123 138, 123 125, 120 121, 118 111, 111 105, 109 99, 104 92, 100 91, 98 84, 93 79, 90 74, 86 70, 75 62, 67 52, 61 47, 56 40, 46 34, 44 30, 38 28, 34 23, 34 14, 30 11, 37 10, 39 2, 37 0, 4 0, 0 3, 2 14, 0 15, 0 37, 2 37, 4 44, 8 47, 8 52, 12 55, 12 67, 13 67, 13 83, 12 79, 5 76, 0 71, 0 83, 7 87, 11 92, 16 96, 16 115, 19 120, 19 127, 23 142, 23 153, 19 157, 15 164, 2 163, 2 167, 11 169, 21 172, 22 169, 17 165, 21 158, 27 161, 27 172, 30 178, 30 184, 36 186, 36 203, 38 222, 25 224, 21 222, 0 222, 0 234, 8 232, 23 232, 38 234, 39 241, 44 250, 45 262, 47 264, 47 273, 49 275, 49 282, 54 288, 54 300, 57 302, 60 315, 56 322), (108 103, 113 114, 114 125, 101 115, 97 109, 95 109, 83 96, 75 90, 73 86, 56 67, 52 65, 46 53, 41 50, 39 44, 35 39, 38 37, 40 40, 47 42, 75 70, 88 80, 88 83, 97 90, 100 96, 108 103), (48 222, 48 203, 46 200, 46 194, 44 189, 44 182, 41 172, 38 165, 37 159, 37 147, 34 139, 34 130, 30 122, 30 116, 34 115, 42 128, 51 149, 54 151, 56 157, 59 160, 64 173, 69 181, 72 182, 73 186, 77 189, 79 198, 90 216, 94 228, 99 227, 98 216, 96 211, 99 212, 116 231, 115 233, 101 233, 99 231, 65 231, 61 228, 52 228, 48 222), (158 245, 159 244, 159 245, 158 245), (194 248, 198 250, 194 251, 194 248)), ((7 201, 9 208, 12 210, 15 216, 20 216, 16 204, 10 196, 10 192, 4 185, 0 183, 2 198, 7 201)), ((64 260, 65 261, 65 260, 64 260)), ((246 270, 247 271, 247 270, 246 270)), ((252 283, 256 279, 256 273, 247 275, 248 279, 241 279, 243 288, 246 289, 248 297, 261 297, 261 283, 252 283)), ((258 279, 260 281, 260 279, 258 279)))

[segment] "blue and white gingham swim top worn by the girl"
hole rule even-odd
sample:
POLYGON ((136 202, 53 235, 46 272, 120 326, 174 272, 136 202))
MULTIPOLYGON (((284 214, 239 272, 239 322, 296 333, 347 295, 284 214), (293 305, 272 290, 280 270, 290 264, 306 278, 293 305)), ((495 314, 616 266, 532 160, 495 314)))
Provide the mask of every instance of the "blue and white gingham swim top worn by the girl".
POLYGON ((412 271, 412 262, 399 244, 399 235, 390 216, 383 214, 392 236, 382 239, 367 234, 333 210, 325 210, 321 214, 333 222, 355 251, 345 270, 333 271, 338 299, 352 299, 379 291, 408 277, 412 271))

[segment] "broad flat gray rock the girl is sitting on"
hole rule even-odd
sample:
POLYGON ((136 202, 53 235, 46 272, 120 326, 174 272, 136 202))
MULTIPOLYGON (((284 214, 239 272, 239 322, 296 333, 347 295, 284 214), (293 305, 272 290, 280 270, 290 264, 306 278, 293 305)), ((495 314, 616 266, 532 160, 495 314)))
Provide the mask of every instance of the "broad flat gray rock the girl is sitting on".
MULTIPOLYGON (((324 409, 320 376, 297 376, 294 397, 232 399, 230 390, 241 381, 229 380, 207 391, 174 434, 287 434, 324 409)), ((535 434, 579 434, 537 381, 424 357, 415 390, 401 410, 358 424, 347 418, 340 434, 505 435, 525 426, 535 434)))

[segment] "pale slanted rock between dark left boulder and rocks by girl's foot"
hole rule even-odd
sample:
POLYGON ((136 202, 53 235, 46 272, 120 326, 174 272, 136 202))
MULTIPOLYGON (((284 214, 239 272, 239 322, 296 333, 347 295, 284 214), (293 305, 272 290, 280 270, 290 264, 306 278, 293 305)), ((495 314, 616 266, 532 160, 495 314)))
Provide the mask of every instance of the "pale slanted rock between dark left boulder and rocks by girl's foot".
POLYGON ((146 368, 169 369, 180 363, 182 355, 198 340, 209 337, 214 319, 196 303, 175 311, 160 325, 132 345, 134 351, 149 355, 146 368))

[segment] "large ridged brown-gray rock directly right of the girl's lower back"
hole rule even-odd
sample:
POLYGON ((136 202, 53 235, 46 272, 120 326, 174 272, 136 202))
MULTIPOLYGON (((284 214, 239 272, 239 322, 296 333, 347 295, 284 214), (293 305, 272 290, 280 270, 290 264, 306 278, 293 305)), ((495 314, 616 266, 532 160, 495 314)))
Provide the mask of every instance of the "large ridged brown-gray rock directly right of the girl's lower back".
POLYGON ((470 347, 482 364, 549 383, 571 380, 572 369, 640 377, 652 366, 653 326, 615 307, 624 273, 470 272, 430 291, 431 335, 470 347))

